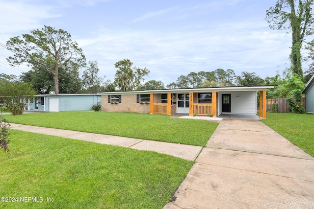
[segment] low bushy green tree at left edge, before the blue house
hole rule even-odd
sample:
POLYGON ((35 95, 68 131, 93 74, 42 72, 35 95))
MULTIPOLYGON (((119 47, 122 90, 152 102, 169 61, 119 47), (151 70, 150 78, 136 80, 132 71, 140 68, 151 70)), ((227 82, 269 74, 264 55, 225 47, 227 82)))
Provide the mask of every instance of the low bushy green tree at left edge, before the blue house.
POLYGON ((28 101, 34 97, 36 91, 23 82, 7 82, 0 86, 0 100, 12 112, 13 115, 21 115, 28 105, 28 101))

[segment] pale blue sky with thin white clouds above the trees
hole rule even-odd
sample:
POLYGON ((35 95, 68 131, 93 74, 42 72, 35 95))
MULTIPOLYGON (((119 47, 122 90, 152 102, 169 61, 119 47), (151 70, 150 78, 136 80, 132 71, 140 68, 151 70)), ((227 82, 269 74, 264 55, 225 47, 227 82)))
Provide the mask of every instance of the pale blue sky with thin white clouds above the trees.
MULTIPOLYGON (((276 0, 0 0, 0 43, 49 25, 64 29, 114 80, 125 58, 165 85, 190 72, 232 69, 262 78, 289 67, 291 35, 264 20, 276 0)), ((0 73, 11 68, 0 47, 0 73)), ((82 70, 81 70, 82 71, 82 70)))

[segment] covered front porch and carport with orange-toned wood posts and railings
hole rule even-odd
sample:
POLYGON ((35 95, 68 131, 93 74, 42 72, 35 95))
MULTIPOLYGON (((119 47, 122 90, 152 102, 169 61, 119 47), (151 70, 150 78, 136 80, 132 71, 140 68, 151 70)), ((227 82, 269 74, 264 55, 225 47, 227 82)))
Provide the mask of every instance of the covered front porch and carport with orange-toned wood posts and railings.
MULTIPOLYGON (((255 95, 255 107, 256 107, 256 92, 254 91, 251 93, 255 95)), ((236 95, 236 92, 167 92, 167 93, 150 93, 150 114, 188 114, 189 116, 224 116, 224 117, 231 117, 235 116, 245 116, 244 118, 248 117, 258 117, 260 119, 266 118, 266 90, 259 91, 260 93, 260 115, 255 116, 254 113, 245 114, 232 114, 231 111, 231 99, 238 100, 234 101, 234 105, 237 108, 241 108, 241 103, 243 109, 245 109, 245 101, 242 98, 243 94, 236 95), (233 95, 233 96, 231 96, 233 95), (243 101, 241 101, 241 99, 243 101), (240 106, 240 107, 239 107, 240 106), (226 113, 225 113, 226 112, 226 113)), ((243 97, 245 98, 245 97, 243 97)), ((250 101, 252 102, 252 101, 250 101)), ((256 114, 256 110, 255 110, 256 114)))

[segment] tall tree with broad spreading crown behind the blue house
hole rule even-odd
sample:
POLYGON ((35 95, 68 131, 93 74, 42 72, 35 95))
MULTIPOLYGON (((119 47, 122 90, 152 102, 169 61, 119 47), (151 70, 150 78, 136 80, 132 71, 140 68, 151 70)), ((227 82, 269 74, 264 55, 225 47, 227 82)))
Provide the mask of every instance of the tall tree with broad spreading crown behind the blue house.
POLYGON ((59 93, 59 69, 64 67, 78 70, 85 66, 85 56, 78 44, 72 41, 71 35, 62 29, 44 26, 42 30, 32 30, 31 34, 23 34, 10 38, 7 48, 14 53, 7 60, 12 66, 27 63, 32 69, 46 68, 53 74, 54 93, 59 93))

